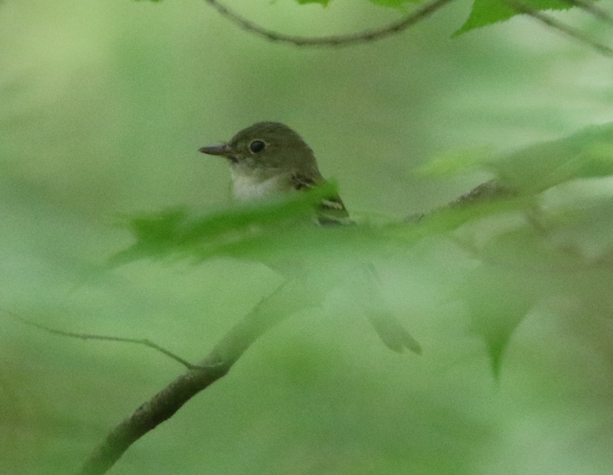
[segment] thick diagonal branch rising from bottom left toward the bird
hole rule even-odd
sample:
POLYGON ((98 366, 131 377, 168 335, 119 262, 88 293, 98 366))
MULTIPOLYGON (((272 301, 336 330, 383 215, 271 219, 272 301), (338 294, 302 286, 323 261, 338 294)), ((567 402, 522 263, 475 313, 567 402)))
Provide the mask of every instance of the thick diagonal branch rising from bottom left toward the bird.
POLYGON ((246 317, 216 344, 197 368, 181 374, 115 427, 94 449, 79 475, 102 475, 129 447, 183 404, 228 373, 232 365, 269 328, 289 315, 321 302, 321 295, 302 280, 286 280, 264 297, 246 317))

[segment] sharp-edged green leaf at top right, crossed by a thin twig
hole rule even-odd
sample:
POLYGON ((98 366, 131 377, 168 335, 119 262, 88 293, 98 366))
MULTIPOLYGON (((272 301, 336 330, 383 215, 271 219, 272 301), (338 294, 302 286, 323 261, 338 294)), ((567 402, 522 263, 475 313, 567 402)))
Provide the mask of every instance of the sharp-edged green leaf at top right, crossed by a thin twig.
MULTIPOLYGON (((538 11, 568 10, 573 7, 571 2, 564 0, 521 0, 521 2, 538 11)), ((468 20, 454 34, 466 33, 474 28, 509 20, 516 15, 517 11, 504 0, 475 0, 468 20)))

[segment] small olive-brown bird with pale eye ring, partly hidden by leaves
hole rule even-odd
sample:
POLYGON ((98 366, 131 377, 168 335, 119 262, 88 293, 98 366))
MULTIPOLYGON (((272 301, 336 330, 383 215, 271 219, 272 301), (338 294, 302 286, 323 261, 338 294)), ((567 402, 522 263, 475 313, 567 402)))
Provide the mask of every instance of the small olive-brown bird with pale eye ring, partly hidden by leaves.
MULTIPOLYGON (((229 142, 202 147, 199 152, 227 159, 232 174, 232 195, 240 200, 308 190, 326 182, 319 172, 313 150, 299 134, 279 122, 255 123, 238 132, 229 142)), ((339 196, 322 200, 315 214, 321 226, 352 223, 339 196)), ((382 299, 373 293, 374 268, 366 263, 361 268, 368 274, 370 284, 360 295, 368 300, 365 306, 371 307, 371 311, 366 309, 367 317, 381 340, 395 352, 408 348, 421 353, 419 343, 382 308, 382 299)))

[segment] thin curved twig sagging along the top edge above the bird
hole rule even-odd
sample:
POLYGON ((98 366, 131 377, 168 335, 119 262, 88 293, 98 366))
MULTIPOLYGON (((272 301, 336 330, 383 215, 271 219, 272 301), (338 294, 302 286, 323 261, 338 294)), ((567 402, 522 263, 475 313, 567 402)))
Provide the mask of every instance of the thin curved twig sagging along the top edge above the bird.
POLYGON ((237 13, 228 9, 228 7, 219 3, 217 0, 205 0, 205 2, 215 8, 219 14, 232 21, 232 23, 235 23, 235 25, 240 26, 240 28, 249 31, 250 33, 263 36, 269 41, 291 43, 296 46, 345 46, 360 42, 375 41, 409 28, 409 26, 423 20, 425 17, 433 14, 436 12, 436 10, 440 9, 451 1, 452 0, 433 0, 428 4, 425 4, 424 7, 417 10, 412 15, 402 18, 402 20, 394 21, 393 23, 379 29, 369 29, 359 33, 347 35, 305 37, 278 33, 277 31, 266 29, 260 25, 257 25, 253 21, 247 20, 246 18, 238 15, 237 13))

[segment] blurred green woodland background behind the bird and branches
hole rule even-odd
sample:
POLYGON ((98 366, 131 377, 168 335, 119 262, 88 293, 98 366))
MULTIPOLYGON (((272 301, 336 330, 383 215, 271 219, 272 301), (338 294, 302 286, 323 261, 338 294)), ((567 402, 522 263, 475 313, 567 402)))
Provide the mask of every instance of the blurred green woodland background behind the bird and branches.
MULTIPOLYGON (((229 6, 303 35, 398 18, 347 0, 229 6)), ((226 165, 202 145, 285 122, 352 215, 388 222, 492 176, 417 173, 428 161, 478 162, 613 120, 610 59, 525 18, 451 37, 469 11, 454 3, 375 43, 296 48, 201 1, 2 2, 0 307, 62 330, 150 338, 196 361, 280 277, 222 255, 96 269, 133 241, 122 215, 227 203, 226 165)), ((611 39, 580 13, 558 18, 611 39)), ((611 183, 592 188, 610 198, 611 183)), ((433 237, 381 250, 376 265, 424 355, 389 352, 346 312, 351 292, 332 291, 110 473, 611 474, 610 309, 568 311, 573 292, 609 303, 608 269, 583 290, 574 272, 546 282, 513 266, 478 272, 478 256, 433 237), (543 298, 514 314, 516 287, 543 298), (492 324, 504 336, 484 341, 490 320, 507 317, 492 324), (497 378, 492 342, 503 347, 497 378)), ((182 371, 148 349, 51 336, 4 313, 0 368, 0 473, 11 475, 75 471, 182 371)))

